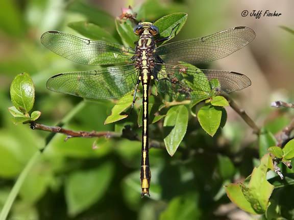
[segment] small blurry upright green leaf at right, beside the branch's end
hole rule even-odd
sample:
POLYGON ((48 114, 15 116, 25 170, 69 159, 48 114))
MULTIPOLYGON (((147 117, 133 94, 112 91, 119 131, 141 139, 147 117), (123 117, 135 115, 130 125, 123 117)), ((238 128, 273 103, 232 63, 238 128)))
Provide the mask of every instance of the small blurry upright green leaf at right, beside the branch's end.
POLYGON ((267 153, 267 148, 276 146, 275 136, 267 131, 265 128, 261 128, 261 132, 258 137, 259 143, 259 157, 261 158, 264 154, 267 153))

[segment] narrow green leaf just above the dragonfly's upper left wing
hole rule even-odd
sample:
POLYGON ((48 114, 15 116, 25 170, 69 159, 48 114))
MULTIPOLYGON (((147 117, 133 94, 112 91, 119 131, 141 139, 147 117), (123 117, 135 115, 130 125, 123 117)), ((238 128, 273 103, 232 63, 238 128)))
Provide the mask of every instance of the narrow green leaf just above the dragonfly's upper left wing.
POLYGON ((106 30, 100 28, 100 26, 88 23, 86 21, 71 22, 68 26, 86 38, 98 41, 114 42, 117 43, 116 39, 106 30))

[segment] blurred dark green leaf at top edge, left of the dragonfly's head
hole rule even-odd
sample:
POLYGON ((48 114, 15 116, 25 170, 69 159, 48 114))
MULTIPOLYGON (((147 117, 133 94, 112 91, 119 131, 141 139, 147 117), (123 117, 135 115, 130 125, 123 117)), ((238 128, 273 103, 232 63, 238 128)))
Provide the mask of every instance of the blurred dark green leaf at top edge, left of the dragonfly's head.
MULTIPOLYGON (((97 4, 95 6, 97 6, 97 4)), ((100 8, 85 4, 82 1, 73 1, 68 5, 67 9, 71 12, 84 15, 89 22, 97 24, 102 28, 106 28, 111 31, 114 30, 114 18, 100 8)))

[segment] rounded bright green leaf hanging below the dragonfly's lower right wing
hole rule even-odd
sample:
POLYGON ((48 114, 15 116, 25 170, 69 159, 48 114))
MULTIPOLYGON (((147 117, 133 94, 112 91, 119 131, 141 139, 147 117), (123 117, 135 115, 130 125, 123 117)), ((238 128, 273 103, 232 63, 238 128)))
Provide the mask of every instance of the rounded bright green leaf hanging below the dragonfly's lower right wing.
POLYGON ((204 105, 199 109, 197 118, 201 127, 213 136, 220 125, 222 109, 213 105, 204 105))

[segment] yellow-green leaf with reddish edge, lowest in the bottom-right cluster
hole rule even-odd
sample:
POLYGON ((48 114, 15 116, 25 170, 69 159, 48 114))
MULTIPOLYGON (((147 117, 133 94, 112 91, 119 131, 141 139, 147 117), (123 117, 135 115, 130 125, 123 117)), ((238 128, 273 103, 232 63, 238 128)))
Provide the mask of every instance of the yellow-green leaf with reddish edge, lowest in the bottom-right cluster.
POLYGON ((245 198, 240 188, 240 183, 230 183, 226 186, 226 192, 230 200, 235 203, 240 209, 252 214, 257 212, 252 208, 251 203, 245 198))

